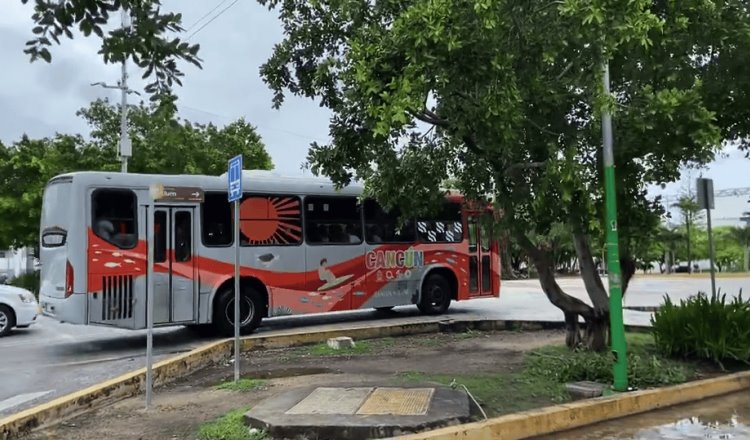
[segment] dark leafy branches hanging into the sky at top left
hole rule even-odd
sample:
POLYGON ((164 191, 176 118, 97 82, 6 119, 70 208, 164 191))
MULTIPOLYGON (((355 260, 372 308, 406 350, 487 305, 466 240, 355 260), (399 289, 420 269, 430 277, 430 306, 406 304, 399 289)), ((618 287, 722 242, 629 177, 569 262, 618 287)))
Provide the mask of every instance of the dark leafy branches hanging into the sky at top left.
MULTIPOLYGON (((28 1, 21 0, 23 4, 28 1)), ((173 83, 182 85, 183 73, 177 68, 178 60, 201 67, 200 46, 174 36, 184 31, 182 14, 163 13, 159 0, 36 0, 31 18, 36 24, 33 28, 36 37, 27 42, 24 53, 32 62, 38 59, 51 62, 52 41, 60 44, 63 35, 73 39, 76 27, 85 37, 93 32, 102 41, 99 53, 105 63, 130 58, 145 70, 144 79, 153 79, 146 86, 146 92, 154 101, 169 94, 173 83), (116 28, 105 34, 102 27, 111 24, 112 13, 120 8, 130 16, 131 29, 122 29, 120 14, 114 14, 116 28)))

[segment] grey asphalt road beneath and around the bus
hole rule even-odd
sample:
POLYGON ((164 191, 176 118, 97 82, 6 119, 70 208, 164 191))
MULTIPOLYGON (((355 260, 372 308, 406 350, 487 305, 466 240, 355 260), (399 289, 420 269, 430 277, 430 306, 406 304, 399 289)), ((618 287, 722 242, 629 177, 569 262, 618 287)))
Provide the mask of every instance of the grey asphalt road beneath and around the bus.
MULTIPOLYGON (((563 289, 586 302, 579 279, 559 280, 563 289)), ((606 282, 605 282, 606 284, 606 282)), ((750 291, 750 278, 718 279, 717 286, 736 295, 750 291)), ((683 298, 702 290, 710 292, 706 279, 638 277, 626 295, 626 306, 654 306, 669 293, 683 298)), ((625 323, 648 325, 651 314, 625 310, 625 323)), ((562 321, 562 313, 552 306, 536 280, 506 281, 500 298, 454 303, 447 317, 505 320, 562 321)), ((390 324, 439 321, 442 317, 421 316, 416 307, 401 307, 393 313, 372 310, 327 315, 273 318, 264 321, 258 333, 273 334, 306 329, 347 327, 357 322, 379 321, 390 324)), ((154 331, 154 360, 189 351, 210 338, 200 338, 183 327, 154 331)), ((48 318, 29 329, 17 330, 0 339, 0 418, 41 402, 94 385, 103 380, 145 366, 145 331, 60 324, 48 318)))

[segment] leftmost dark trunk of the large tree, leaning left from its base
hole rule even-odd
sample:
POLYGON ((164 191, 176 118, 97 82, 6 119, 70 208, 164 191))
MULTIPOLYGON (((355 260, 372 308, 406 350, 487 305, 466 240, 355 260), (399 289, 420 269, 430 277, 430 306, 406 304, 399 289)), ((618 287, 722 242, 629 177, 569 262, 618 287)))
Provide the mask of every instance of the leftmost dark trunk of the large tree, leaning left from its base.
MULTIPOLYGON (((583 317, 587 328, 597 328, 600 324, 597 323, 594 309, 580 299, 570 296, 562 290, 555 280, 555 272, 549 255, 534 246, 525 233, 516 232, 515 237, 518 244, 526 252, 526 255, 529 256, 529 259, 539 273, 539 282, 544 294, 547 295, 550 302, 555 307, 562 310, 565 315, 565 329, 567 332, 565 344, 572 349, 581 345, 582 342, 588 342, 582 340, 578 331, 578 317, 583 317)), ((588 345, 588 343, 586 344, 586 347, 594 348, 588 345)))

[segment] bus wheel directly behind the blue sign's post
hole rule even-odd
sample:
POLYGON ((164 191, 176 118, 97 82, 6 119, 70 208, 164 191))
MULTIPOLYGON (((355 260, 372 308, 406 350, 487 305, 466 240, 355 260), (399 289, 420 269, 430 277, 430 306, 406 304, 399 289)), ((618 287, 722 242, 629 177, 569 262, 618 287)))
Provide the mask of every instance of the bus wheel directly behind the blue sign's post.
MULTIPOLYGON (((224 337, 234 336, 234 286, 217 293, 214 307, 213 325, 216 332, 224 337)), ((263 296, 254 288, 245 286, 240 290, 240 334, 252 333, 263 319, 263 296), (248 314, 247 311, 252 313, 248 314)))

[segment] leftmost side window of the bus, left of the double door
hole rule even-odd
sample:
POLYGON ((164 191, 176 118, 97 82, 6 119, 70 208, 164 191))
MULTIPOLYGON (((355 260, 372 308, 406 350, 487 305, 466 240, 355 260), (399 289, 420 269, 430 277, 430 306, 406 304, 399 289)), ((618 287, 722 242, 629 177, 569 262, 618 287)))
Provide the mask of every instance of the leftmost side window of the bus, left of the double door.
POLYGON ((132 249, 138 242, 137 199, 133 191, 97 189, 91 194, 94 234, 121 249, 132 249))

